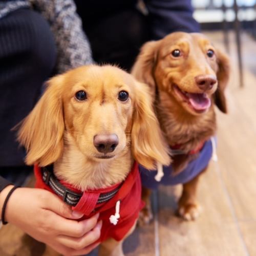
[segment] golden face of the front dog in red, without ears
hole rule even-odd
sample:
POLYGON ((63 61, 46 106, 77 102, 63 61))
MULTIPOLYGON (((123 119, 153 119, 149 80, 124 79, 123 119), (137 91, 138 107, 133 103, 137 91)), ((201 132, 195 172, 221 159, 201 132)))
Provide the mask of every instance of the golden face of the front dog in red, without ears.
POLYGON ((63 80, 65 126, 80 152, 95 161, 118 156, 131 132, 135 82, 108 68, 75 70, 63 80), (75 82, 74 82, 75 81, 75 82), (73 83, 72 88, 70 84, 73 83))

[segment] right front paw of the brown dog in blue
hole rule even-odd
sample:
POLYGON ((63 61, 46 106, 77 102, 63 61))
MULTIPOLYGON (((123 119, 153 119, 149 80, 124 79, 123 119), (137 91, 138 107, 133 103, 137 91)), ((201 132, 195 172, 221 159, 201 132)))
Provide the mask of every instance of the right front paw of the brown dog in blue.
POLYGON ((186 203, 179 206, 178 214, 186 221, 194 221, 199 217, 201 211, 202 208, 199 204, 186 203))

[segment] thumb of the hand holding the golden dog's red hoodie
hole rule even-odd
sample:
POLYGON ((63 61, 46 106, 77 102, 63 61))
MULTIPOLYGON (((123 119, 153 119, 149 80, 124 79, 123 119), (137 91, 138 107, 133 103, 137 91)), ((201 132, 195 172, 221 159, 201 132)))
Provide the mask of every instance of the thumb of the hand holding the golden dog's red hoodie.
POLYGON ((77 211, 72 211, 71 206, 67 205, 61 199, 50 193, 49 191, 42 190, 44 193, 41 193, 41 200, 43 208, 55 212, 57 215, 60 215, 68 219, 80 219, 83 214, 77 211))

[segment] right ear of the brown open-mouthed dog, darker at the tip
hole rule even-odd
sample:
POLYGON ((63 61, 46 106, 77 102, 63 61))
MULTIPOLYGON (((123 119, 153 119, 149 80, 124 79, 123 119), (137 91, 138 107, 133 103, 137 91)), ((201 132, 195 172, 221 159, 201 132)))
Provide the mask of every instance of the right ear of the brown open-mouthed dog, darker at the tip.
POLYGON ((225 88, 228 83, 230 74, 229 58, 226 54, 222 53, 220 50, 216 51, 217 62, 218 62, 218 89, 215 93, 215 104, 218 106, 219 110, 223 113, 227 113, 227 103, 225 97, 225 88))

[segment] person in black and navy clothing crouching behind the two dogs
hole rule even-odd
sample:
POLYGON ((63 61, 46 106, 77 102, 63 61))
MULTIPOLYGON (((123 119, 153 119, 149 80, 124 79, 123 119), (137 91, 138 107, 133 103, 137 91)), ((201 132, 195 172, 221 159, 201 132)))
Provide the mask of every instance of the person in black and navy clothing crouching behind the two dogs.
POLYGON ((190 0, 74 0, 98 63, 130 71, 140 47, 175 32, 199 32, 190 0))

